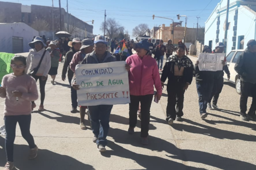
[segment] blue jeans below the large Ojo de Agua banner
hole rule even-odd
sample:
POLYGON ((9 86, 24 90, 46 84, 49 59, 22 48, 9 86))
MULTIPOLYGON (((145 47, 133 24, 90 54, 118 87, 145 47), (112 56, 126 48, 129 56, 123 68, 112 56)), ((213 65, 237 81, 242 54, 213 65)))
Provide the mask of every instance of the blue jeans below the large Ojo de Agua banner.
POLYGON ((93 134, 98 137, 96 143, 107 145, 107 134, 109 130, 109 116, 113 105, 88 106, 90 123, 92 124, 93 134))

